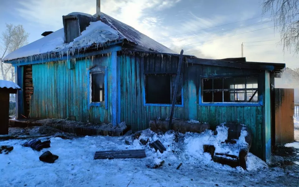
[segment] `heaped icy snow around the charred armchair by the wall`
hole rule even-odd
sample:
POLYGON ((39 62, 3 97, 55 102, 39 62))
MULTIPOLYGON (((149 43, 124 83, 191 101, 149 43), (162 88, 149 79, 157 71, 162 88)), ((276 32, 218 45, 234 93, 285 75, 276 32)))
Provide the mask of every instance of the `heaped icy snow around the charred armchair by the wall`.
MULTIPOLYGON (((239 140, 236 144, 222 143, 227 139, 228 128, 223 124, 217 127, 217 135, 211 130, 206 130, 202 133, 187 132, 186 134, 179 134, 179 142, 174 142, 175 134, 171 131, 166 132, 163 135, 158 135, 152 131, 144 130, 139 137, 139 140, 149 139, 149 142, 159 140, 166 147, 166 151, 161 154, 159 151, 156 153, 153 148, 148 145, 141 146, 139 140, 135 140, 133 144, 136 149, 145 149, 146 155, 151 156, 156 162, 156 158, 162 159, 168 163, 183 162, 192 166, 200 167, 201 165, 208 165, 214 168, 224 170, 235 170, 228 165, 221 165, 212 161, 209 153, 203 152, 203 145, 214 145, 215 153, 225 153, 230 155, 239 156, 240 148, 248 146, 245 141, 247 131, 242 130, 239 140)), ((267 164, 254 156, 252 153, 247 157, 247 169, 257 170, 259 168, 268 167, 267 164)), ((237 170, 243 170, 241 167, 237 167, 237 170)))

